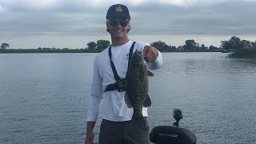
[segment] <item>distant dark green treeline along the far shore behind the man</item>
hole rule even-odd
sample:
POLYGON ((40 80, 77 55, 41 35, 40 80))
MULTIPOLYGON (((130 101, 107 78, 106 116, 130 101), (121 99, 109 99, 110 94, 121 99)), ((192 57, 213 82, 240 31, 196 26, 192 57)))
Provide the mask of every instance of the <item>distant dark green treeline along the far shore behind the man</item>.
MULTIPOLYGON (((198 42, 195 42, 194 39, 188 39, 185 41, 183 46, 169 46, 166 45, 166 42, 158 41, 152 42, 151 45, 155 46, 159 51, 162 52, 176 52, 176 51, 186 51, 186 52, 218 52, 222 50, 235 51, 243 49, 256 49, 256 41, 250 42, 247 40, 241 40, 238 37, 231 37, 228 41, 221 41, 221 46, 205 46, 204 44, 200 45, 198 42)), ((9 48, 8 43, 2 43, 0 53, 97 53, 100 52, 106 47, 110 46, 110 42, 106 40, 98 40, 97 42, 88 42, 86 48, 81 49, 69 49, 69 48, 42 48, 38 49, 7 49, 9 48)))

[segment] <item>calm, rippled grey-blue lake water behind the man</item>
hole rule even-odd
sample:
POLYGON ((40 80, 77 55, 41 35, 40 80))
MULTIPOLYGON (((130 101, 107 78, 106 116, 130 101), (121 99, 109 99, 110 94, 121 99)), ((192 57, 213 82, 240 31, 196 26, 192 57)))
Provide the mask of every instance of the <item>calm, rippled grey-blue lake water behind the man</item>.
MULTIPOLYGON (((150 127, 180 126, 198 143, 256 143, 256 62, 222 53, 163 53, 150 78, 150 127)), ((0 54, 0 143, 83 143, 96 54, 0 54)), ((95 126, 95 142, 101 118, 95 126)))

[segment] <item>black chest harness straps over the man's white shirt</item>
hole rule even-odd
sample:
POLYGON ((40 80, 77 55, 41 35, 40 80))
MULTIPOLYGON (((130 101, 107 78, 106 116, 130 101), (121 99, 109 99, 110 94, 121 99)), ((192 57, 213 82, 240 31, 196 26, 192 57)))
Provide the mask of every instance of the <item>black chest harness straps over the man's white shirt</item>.
MULTIPOLYGON (((136 42, 133 42, 133 44, 130 46, 128 68, 129 68, 129 65, 130 65, 131 57, 133 56, 134 44, 135 43, 136 42)), ((115 79, 116 82, 106 86, 105 92, 106 91, 112 91, 112 90, 118 90, 118 92, 126 91, 126 78, 124 78, 124 79, 119 78, 118 72, 117 72, 117 70, 114 67, 114 62, 112 62, 112 60, 111 60, 111 56, 112 56, 112 54, 111 54, 111 46, 109 48, 109 56, 110 56, 111 68, 113 70, 114 79, 115 79)), ((128 70, 127 70, 127 72, 128 72, 128 70)), ((126 76, 127 76, 127 74, 126 74, 126 76)))

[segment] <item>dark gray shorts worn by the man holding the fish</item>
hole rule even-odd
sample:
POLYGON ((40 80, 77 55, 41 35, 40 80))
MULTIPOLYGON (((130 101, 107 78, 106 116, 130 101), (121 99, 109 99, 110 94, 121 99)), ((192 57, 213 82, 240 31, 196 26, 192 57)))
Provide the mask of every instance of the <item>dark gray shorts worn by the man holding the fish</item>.
POLYGON ((102 119, 99 144, 149 144, 149 125, 146 118, 126 122, 102 119))

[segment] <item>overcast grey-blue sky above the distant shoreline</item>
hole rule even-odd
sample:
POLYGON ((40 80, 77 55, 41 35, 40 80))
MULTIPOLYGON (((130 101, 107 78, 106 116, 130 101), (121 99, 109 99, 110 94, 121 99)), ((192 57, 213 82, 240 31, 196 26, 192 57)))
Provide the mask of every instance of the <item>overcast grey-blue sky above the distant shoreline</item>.
POLYGON ((0 44, 85 48, 110 41, 106 11, 116 3, 130 10, 135 41, 220 46, 232 36, 256 40, 256 0, 0 0, 0 44))

